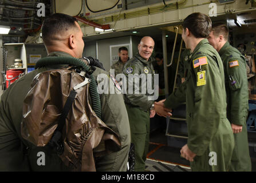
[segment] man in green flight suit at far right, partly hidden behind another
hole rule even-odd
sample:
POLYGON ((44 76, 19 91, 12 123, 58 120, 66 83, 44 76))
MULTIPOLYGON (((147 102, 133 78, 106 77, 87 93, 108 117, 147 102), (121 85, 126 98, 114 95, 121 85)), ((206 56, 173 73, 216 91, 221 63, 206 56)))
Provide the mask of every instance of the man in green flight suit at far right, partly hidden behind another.
POLYGON ((247 137, 248 82, 245 57, 229 41, 229 29, 223 23, 212 26, 208 41, 222 58, 227 94, 227 118, 235 138, 230 171, 251 171, 251 158, 247 137))

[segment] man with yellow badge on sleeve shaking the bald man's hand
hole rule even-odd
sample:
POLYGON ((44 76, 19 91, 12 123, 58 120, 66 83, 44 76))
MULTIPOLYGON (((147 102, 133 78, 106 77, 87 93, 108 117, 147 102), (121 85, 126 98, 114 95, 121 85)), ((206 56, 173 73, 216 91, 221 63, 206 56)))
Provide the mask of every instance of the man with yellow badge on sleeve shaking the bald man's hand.
POLYGON ((205 14, 184 19, 182 38, 192 53, 187 79, 166 101, 158 102, 175 109, 186 101, 188 141, 180 153, 191 162, 192 171, 228 171, 234 149, 223 64, 206 39, 210 31, 211 19, 205 14))

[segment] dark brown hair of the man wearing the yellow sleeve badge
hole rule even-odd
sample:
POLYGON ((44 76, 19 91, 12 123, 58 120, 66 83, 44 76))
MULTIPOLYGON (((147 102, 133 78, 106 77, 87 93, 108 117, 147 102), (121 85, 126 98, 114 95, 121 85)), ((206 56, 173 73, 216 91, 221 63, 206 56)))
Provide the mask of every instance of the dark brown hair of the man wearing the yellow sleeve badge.
POLYGON ((196 38, 207 38, 211 33, 211 19, 203 13, 192 13, 183 22, 183 29, 188 28, 196 38))

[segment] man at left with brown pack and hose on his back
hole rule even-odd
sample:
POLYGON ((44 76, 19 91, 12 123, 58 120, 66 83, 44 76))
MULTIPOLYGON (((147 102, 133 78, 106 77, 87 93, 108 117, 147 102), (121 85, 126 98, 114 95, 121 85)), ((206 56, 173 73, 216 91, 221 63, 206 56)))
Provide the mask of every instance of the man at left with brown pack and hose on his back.
MULTIPOLYGON (((42 25, 48 57, 82 58, 83 33, 77 19, 65 14, 52 14, 42 25)), ((68 171, 60 157, 49 147, 37 147, 21 137, 23 99, 30 90, 31 81, 42 71, 65 67, 41 67, 14 82, 1 96, 0 103, 0 170, 1 171, 68 171), (18 91, 18 92, 17 92, 18 91), (45 165, 37 164, 38 152, 45 153, 45 165)), ((104 73, 96 68, 93 75, 104 73)), ((120 138, 117 152, 95 158, 97 171, 126 171, 130 140, 128 115, 121 94, 101 94, 102 120, 120 138)))

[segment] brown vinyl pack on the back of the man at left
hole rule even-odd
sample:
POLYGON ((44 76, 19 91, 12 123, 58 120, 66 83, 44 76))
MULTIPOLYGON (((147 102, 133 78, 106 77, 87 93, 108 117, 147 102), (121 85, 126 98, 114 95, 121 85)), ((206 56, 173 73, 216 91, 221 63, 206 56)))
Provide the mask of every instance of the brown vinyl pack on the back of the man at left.
POLYGON ((74 171, 96 171, 94 157, 120 149, 119 136, 92 110, 89 82, 72 67, 44 71, 23 102, 22 137, 36 146, 57 145, 58 156, 74 171))

